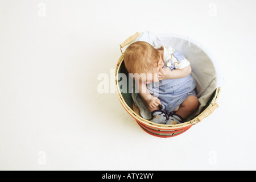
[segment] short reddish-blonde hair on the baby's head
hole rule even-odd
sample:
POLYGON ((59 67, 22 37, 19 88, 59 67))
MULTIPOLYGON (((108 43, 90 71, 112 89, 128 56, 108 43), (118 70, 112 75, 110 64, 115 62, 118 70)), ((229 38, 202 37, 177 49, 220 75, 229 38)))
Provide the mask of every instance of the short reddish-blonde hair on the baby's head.
POLYGON ((155 72, 160 53, 147 42, 138 41, 124 53, 125 67, 129 73, 155 72))

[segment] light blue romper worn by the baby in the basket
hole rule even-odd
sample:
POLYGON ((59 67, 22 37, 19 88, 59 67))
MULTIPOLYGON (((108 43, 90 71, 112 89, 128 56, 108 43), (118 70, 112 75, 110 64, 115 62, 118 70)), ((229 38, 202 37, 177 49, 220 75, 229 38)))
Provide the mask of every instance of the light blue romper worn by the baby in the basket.
MULTIPOLYGON (((184 60, 185 57, 181 52, 174 52, 172 55, 177 61, 184 60)), ((164 67, 167 68, 166 63, 171 60, 164 61, 164 67)), ((175 65, 169 67, 170 70, 175 69, 175 65)), ((187 97, 196 96, 195 92, 196 81, 191 74, 184 78, 160 80, 159 82, 151 82, 147 84, 148 92, 154 97, 159 98, 162 103, 163 110, 167 114, 174 111, 187 97)))

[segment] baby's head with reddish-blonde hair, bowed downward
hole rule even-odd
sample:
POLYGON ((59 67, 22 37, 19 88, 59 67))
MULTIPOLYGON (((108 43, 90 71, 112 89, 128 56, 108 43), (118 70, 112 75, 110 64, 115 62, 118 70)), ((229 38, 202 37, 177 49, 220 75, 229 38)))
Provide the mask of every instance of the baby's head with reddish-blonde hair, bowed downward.
POLYGON ((127 71, 133 73, 135 80, 159 81, 157 75, 160 67, 163 66, 163 61, 159 50, 147 42, 138 41, 127 47, 124 53, 124 61, 127 71))

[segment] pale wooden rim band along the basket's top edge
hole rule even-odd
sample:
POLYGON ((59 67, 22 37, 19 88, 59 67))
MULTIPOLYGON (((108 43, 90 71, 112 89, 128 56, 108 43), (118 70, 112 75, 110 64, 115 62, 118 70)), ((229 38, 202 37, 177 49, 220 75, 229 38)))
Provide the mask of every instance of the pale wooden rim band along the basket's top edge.
POLYGON ((201 115, 203 115, 203 113, 206 110, 208 110, 210 107, 212 107, 214 104, 216 104, 216 102, 218 101, 218 98, 220 97, 221 87, 218 87, 217 92, 215 92, 215 95, 214 95, 212 101, 210 102, 210 105, 207 106, 204 109, 204 111, 201 111, 201 113, 199 115, 197 115, 197 117, 191 119, 190 121, 180 123, 180 124, 177 124, 177 125, 164 125, 164 124, 158 124, 158 123, 148 121, 147 119, 144 119, 141 116, 139 116, 137 113, 135 113, 135 111, 133 111, 133 109, 131 109, 126 104, 125 100, 122 97, 121 90, 119 89, 119 86, 118 86, 118 71, 119 71, 119 68, 121 67, 122 62, 123 62, 123 53, 119 57, 119 59, 117 61, 117 64, 115 66, 115 91, 117 93, 118 100, 121 102, 122 106, 125 108, 127 113, 129 113, 131 115, 131 117, 133 117, 135 120, 138 120, 139 122, 143 123, 144 125, 154 127, 155 129, 171 129, 171 130, 174 130, 174 129, 182 129, 183 127, 196 125, 197 123, 200 122, 199 117, 201 115))

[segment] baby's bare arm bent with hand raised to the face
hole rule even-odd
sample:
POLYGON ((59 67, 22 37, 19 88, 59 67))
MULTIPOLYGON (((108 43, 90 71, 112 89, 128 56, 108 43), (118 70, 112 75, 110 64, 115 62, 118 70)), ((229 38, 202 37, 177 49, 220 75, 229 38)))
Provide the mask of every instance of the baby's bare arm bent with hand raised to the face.
POLYGON ((159 70, 159 80, 176 79, 188 76, 191 73, 191 66, 188 65, 182 69, 170 70, 169 68, 162 68, 159 70))

